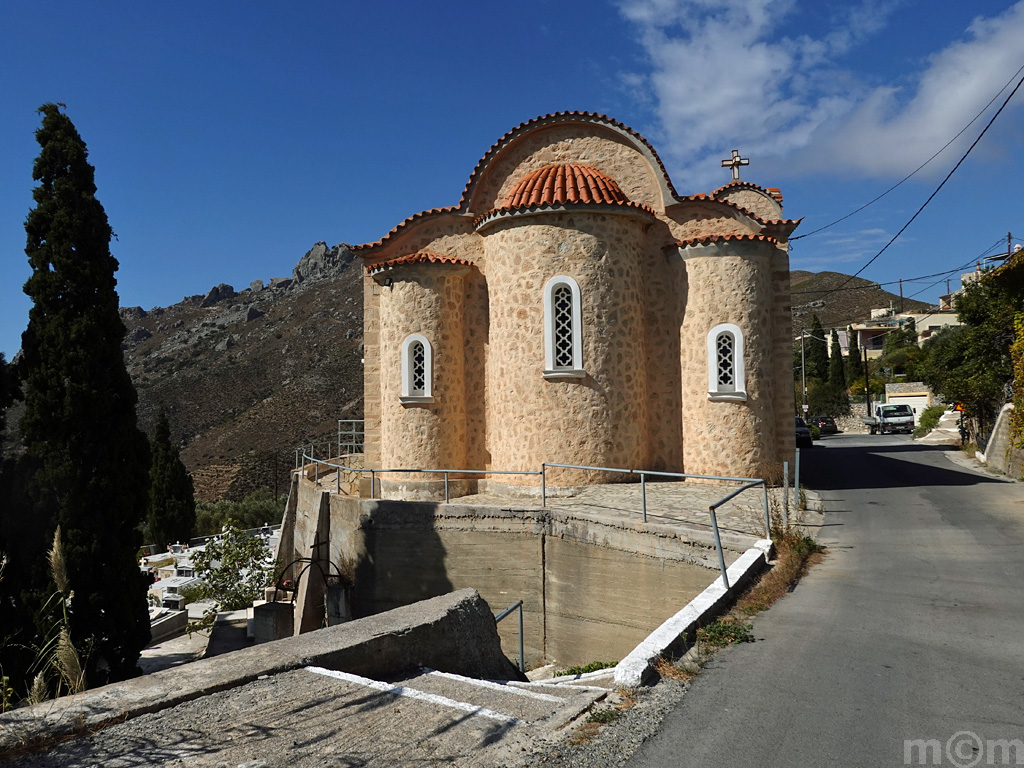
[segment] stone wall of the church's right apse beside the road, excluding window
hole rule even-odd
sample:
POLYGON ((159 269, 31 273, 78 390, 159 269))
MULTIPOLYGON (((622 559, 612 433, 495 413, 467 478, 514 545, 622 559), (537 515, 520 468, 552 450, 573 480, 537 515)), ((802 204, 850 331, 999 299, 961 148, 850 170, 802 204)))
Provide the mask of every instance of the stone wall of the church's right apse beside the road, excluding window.
POLYGON ((764 244, 731 255, 692 248, 683 265, 691 290, 681 336, 683 465, 687 473, 759 477, 775 460, 772 288, 764 244), (709 254, 709 255, 703 255, 709 254), (699 291, 692 287, 699 286, 699 291), (719 323, 743 334, 746 400, 708 398, 707 337, 719 323))

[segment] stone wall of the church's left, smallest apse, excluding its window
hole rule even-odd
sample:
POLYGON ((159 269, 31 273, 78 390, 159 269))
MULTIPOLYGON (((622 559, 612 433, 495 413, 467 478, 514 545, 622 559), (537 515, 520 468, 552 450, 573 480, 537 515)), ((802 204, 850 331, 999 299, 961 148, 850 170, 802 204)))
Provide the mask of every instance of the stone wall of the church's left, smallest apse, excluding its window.
MULTIPOLYGON (((385 467, 465 468, 466 382, 463 278, 450 267, 395 270, 380 296, 381 463, 385 467), (401 346, 410 334, 431 345, 433 402, 402 403, 401 346)), ((403 478, 388 475, 387 479, 403 478)), ((429 477, 437 480, 437 477, 429 477)))

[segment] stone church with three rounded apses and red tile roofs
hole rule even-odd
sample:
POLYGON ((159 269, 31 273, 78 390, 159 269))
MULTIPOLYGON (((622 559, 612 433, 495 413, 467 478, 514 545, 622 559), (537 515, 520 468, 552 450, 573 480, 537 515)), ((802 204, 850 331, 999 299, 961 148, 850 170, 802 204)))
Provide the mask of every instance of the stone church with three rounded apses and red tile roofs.
MULTIPOLYGON (((799 222, 778 189, 739 180, 744 164, 734 152, 730 183, 681 196, 636 131, 547 115, 490 147, 458 205, 355 246, 366 466, 759 477, 791 458, 799 222)), ((549 485, 637 479, 555 472, 549 485)), ((381 488, 443 498, 437 474, 381 488)))

